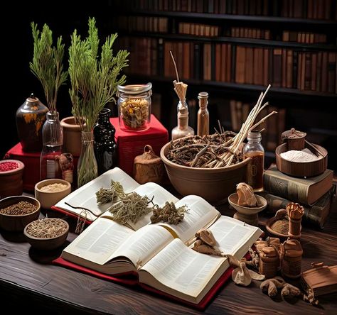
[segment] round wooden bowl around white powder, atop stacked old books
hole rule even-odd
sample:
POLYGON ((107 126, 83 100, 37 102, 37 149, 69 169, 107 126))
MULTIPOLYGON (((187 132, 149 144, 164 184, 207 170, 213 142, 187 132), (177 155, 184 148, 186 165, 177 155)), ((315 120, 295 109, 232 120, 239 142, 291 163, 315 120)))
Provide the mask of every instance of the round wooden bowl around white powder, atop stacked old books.
MULTIPOLYGON (((281 153, 287 152, 288 146, 287 143, 279 145, 275 150, 277 169, 284 174, 295 177, 311 177, 322 174, 326 171, 326 167, 328 167, 328 151, 320 145, 313 145, 324 153, 324 156, 312 162, 291 162, 284 160, 281 153)), ((307 144, 306 148, 313 152, 307 144)))

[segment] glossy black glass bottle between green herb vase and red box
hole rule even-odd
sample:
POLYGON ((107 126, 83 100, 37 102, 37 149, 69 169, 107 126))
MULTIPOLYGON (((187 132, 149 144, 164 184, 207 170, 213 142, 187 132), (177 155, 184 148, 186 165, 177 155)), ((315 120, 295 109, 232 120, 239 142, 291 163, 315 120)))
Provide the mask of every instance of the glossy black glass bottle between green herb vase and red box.
POLYGON ((114 140, 114 126, 109 120, 110 113, 109 109, 102 109, 94 126, 94 149, 98 175, 117 166, 117 143, 114 140))

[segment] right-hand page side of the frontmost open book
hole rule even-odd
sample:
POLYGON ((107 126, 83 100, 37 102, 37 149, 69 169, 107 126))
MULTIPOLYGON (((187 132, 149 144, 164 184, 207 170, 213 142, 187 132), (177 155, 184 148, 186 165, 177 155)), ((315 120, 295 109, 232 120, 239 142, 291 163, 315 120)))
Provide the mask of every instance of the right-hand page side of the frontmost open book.
MULTIPOLYGON (((165 287, 197 297, 220 267, 222 274, 229 267, 227 258, 197 253, 176 238, 141 268, 139 281, 172 294, 164 287, 151 283, 149 278, 146 279, 145 271, 165 287)), ((213 282, 217 279, 215 277, 213 282)))

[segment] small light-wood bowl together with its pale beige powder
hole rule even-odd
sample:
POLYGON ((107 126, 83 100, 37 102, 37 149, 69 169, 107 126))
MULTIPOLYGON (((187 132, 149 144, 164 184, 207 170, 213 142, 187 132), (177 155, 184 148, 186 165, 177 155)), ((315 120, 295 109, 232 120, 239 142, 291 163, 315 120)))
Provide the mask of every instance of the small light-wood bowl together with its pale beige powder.
POLYGON ((43 209, 50 209, 70 192, 71 185, 64 179, 45 179, 35 185, 35 197, 43 209))

